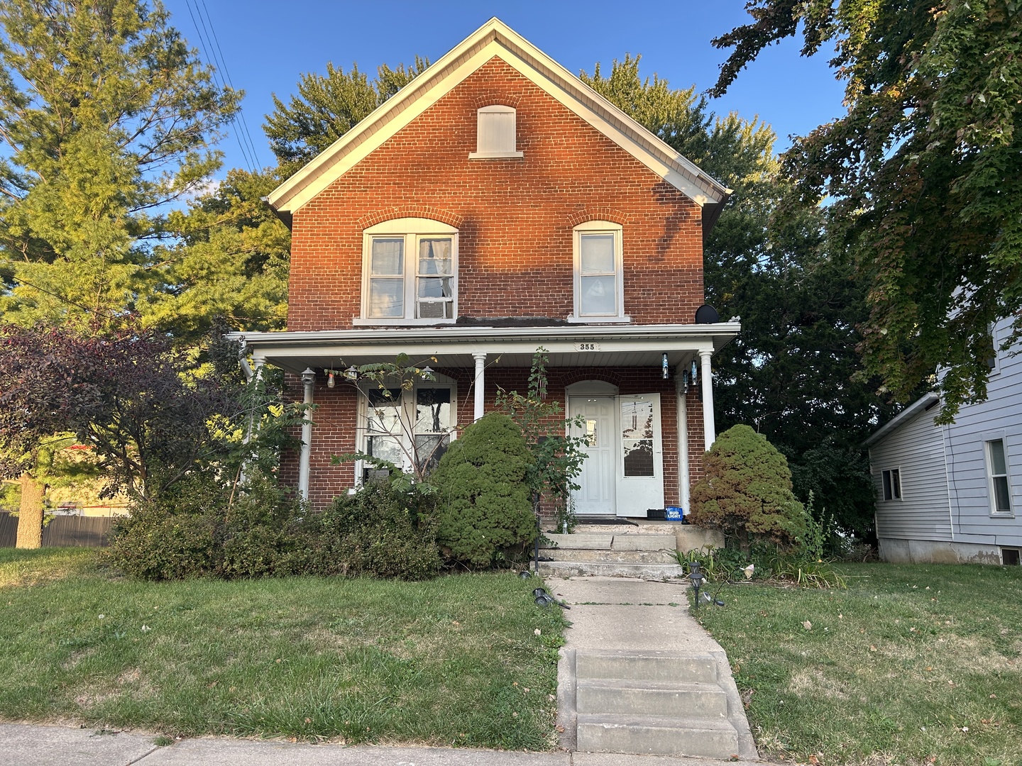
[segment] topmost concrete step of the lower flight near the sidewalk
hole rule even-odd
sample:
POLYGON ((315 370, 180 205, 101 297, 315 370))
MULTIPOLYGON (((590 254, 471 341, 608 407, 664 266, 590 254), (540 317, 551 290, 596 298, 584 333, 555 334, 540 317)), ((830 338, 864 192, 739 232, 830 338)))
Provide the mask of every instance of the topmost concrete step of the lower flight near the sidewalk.
POLYGON ((628 678, 632 681, 716 683, 716 659, 676 652, 575 653, 578 681, 628 678))

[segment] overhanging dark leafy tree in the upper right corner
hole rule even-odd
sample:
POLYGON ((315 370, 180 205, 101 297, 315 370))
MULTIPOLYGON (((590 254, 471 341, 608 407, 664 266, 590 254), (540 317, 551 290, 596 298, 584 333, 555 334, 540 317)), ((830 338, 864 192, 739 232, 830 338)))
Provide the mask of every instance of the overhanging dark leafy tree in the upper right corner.
POLYGON ((833 198, 833 240, 869 285, 865 372, 896 399, 935 384, 949 422, 986 396, 990 327, 1022 333, 1022 13, 1014 0, 758 0, 722 94, 768 45, 833 42, 847 113, 798 139, 784 173, 833 198))

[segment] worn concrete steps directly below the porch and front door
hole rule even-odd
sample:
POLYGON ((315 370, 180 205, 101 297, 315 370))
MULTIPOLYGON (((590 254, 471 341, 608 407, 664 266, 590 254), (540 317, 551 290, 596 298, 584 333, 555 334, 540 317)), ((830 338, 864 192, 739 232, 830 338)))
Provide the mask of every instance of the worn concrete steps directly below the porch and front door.
POLYGON ((547 534, 550 540, 542 550, 540 574, 557 577, 603 575, 663 580, 682 577, 684 572, 675 560, 678 543, 673 534, 644 534, 641 527, 632 532, 605 532, 600 527, 585 527, 573 534, 547 534))

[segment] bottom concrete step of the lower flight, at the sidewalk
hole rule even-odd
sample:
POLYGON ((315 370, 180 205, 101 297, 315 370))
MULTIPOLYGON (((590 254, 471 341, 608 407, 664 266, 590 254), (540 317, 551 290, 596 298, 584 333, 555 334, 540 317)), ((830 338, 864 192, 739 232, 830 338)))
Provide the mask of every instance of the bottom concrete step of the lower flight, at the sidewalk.
POLYGON ((579 751, 730 759, 738 732, 727 718, 578 714, 579 751))

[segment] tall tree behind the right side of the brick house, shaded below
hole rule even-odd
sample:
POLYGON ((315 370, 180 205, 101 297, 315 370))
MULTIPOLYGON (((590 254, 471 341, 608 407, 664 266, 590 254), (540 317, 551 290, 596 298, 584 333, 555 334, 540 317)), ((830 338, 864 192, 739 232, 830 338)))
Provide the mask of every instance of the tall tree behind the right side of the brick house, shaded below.
POLYGON ((754 426, 787 458, 802 501, 815 492, 843 531, 868 536, 874 497, 861 443, 891 408, 854 350, 865 285, 832 256, 824 211, 779 176, 769 127, 717 117, 694 88, 642 80, 639 61, 582 77, 734 189, 704 244, 706 299, 742 321, 713 357, 719 430, 754 426))

